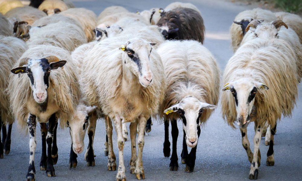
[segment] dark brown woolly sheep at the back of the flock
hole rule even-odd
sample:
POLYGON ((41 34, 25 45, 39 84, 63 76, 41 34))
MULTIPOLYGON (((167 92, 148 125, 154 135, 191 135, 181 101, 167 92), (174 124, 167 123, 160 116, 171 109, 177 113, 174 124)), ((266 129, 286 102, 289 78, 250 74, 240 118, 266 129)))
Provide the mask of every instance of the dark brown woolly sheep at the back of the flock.
POLYGON ((176 8, 164 11, 157 25, 166 39, 194 39, 204 42, 204 23, 198 11, 190 8, 176 8))

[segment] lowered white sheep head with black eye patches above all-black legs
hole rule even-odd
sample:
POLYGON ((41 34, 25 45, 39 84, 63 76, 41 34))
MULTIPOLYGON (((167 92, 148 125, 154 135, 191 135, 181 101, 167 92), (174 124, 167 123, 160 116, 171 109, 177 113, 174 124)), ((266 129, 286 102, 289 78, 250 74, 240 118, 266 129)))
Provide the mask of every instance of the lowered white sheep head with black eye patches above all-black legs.
POLYGON ((186 133, 186 143, 193 148, 197 145, 200 134, 200 117, 205 109, 215 109, 217 106, 199 101, 196 97, 189 96, 179 103, 169 107, 164 113, 178 113, 182 118, 183 129, 186 133), (199 133, 198 133, 199 132, 199 133))

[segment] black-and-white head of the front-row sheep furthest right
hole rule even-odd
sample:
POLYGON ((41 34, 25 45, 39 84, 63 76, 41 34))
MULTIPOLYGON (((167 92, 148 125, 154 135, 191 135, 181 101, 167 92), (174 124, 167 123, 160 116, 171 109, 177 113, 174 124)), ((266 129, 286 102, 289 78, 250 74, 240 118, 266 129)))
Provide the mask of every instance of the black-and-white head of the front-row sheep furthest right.
POLYGON ((255 103, 256 94, 262 94, 263 91, 268 90, 268 87, 251 78, 241 78, 225 84, 221 91, 226 90, 230 90, 234 97, 238 126, 246 128, 251 120, 250 115, 255 103))

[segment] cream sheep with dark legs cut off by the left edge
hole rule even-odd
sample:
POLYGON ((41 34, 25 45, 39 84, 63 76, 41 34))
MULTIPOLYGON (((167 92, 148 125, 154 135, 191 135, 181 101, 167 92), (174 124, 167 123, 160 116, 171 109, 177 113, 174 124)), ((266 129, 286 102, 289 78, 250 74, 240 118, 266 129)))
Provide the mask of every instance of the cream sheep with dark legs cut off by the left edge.
POLYGON ((8 87, 8 76, 13 64, 22 56, 27 49, 26 43, 15 37, 4 37, 0 35, 0 131, 3 127, 2 135, 6 133, 5 125, 8 125, 7 137, 2 137, 5 142, 1 143, 0 137, 0 158, 3 158, 4 154, 9 154, 11 146, 11 128, 14 122, 13 115, 11 114, 9 107, 9 99, 5 93, 8 87))

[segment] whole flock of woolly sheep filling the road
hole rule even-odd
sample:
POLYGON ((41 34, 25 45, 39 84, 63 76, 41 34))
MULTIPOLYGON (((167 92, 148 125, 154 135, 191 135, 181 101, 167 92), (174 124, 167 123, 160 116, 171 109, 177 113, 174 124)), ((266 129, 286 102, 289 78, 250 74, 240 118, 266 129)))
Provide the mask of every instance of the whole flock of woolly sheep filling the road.
POLYGON ((40 170, 56 176, 58 120, 61 127, 70 129, 69 167, 77 166, 87 129, 85 160, 88 166, 95 165, 96 121, 104 120, 108 170, 117 169, 113 144, 119 150, 117 180, 126 180, 126 122, 130 122, 130 172, 145 179, 142 154, 151 118, 164 122, 165 157, 170 156, 171 123, 171 171, 178 170, 177 120, 182 120, 182 163, 186 172, 193 172, 200 127, 216 108, 220 88, 222 116, 242 133, 251 163, 249 179, 258 178, 259 144, 265 129, 266 165, 274 165, 276 122, 281 115, 291 115, 302 77, 298 15, 260 8, 239 13, 230 27, 234 55, 224 69, 221 86, 216 60, 202 45, 203 18, 192 4, 175 2, 137 13, 112 6, 98 17, 66 0, 32 0, 30 6, 0 0, 0 7, 0 130, 4 136, 0 158, 10 152, 16 120, 30 136, 27 181, 35 180, 37 123, 42 134, 40 170), (112 141, 112 122, 117 143, 112 141), (254 152, 247 138, 249 122, 255 122, 254 152), (192 148, 190 153, 187 147, 192 148))

